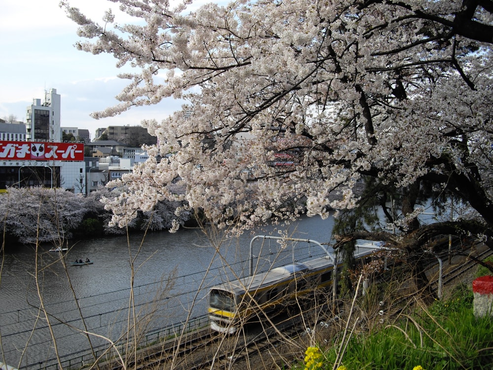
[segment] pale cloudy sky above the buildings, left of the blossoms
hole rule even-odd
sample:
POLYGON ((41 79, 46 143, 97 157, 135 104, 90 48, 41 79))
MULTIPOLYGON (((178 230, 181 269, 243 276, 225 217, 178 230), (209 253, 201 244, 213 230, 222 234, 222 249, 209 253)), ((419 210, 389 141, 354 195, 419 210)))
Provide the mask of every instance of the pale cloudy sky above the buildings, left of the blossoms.
MULTIPOLYGON (((138 125, 142 119, 158 121, 180 109, 181 102, 163 101, 138 107, 115 117, 96 120, 94 111, 114 106, 114 98, 126 85, 119 79, 117 60, 109 54, 92 55, 75 49, 77 25, 59 7, 60 0, 1 0, 0 12, 0 118, 13 114, 26 120, 33 99, 44 100, 51 88, 61 95, 61 126, 88 129, 91 140, 97 128, 138 125)), ((70 0, 89 18, 102 23, 112 8, 117 23, 132 22, 118 14, 107 0, 70 0)), ((206 0, 201 0, 206 2, 206 0)))

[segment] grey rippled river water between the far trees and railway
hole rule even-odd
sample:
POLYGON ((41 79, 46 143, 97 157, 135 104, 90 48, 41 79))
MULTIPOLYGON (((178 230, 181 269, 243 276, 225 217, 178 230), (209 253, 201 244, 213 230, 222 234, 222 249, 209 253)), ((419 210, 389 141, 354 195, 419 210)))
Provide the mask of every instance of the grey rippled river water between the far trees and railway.
MULTIPOLYGON (((283 230, 292 238, 327 243, 332 228, 331 217, 304 217, 290 226, 267 225, 239 237, 182 229, 73 242, 64 254, 48 252, 50 246, 37 252, 20 247, 2 256, 0 362, 33 369, 32 364, 42 368, 57 352, 62 358, 76 357, 90 347, 84 330, 116 341, 129 326, 129 305, 139 318, 139 333, 203 316, 209 288, 248 275, 250 259, 255 271, 263 271, 324 253, 313 243, 281 246, 257 239, 250 256, 253 236, 279 236, 283 230), (70 265, 86 258, 94 264, 70 265)), ((90 339, 93 346, 107 343, 99 336, 90 339)))

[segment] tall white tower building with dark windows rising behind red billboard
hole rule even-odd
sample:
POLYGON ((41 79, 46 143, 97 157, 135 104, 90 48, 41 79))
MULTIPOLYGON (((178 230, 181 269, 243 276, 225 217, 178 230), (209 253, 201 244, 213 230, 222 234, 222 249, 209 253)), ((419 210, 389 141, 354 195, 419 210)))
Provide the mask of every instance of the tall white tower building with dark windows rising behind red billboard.
POLYGON ((27 107, 26 131, 31 141, 61 141, 60 130, 61 99, 56 89, 45 92, 44 100, 33 99, 27 107))

